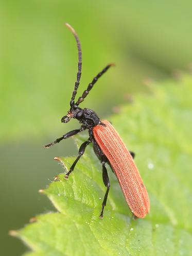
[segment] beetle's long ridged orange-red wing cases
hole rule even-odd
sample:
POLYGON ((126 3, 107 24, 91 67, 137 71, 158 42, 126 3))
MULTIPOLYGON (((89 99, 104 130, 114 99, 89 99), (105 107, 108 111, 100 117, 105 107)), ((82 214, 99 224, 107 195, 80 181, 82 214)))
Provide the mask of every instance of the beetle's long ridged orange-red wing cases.
POLYGON ((96 142, 108 158, 131 212, 144 218, 150 209, 147 190, 129 150, 107 120, 93 127, 96 142))

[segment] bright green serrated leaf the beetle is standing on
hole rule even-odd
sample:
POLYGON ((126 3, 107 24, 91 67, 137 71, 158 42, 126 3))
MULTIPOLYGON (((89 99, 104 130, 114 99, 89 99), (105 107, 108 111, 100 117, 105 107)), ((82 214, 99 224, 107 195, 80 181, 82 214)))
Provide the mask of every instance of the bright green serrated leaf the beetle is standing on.
MULTIPOLYGON (((44 194, 58 210, 38 215, 16 232, 33 252, 26 256, 191 255, 192 251, 192 78, 151 84, 151 95, 136 95, 109 120, 128 148, 149 192, 150 214, 132 214, 111 172, 111 189, 99 219, 106 191, 101 166, 87 148, 75 171, 51 182, 44 194)), ((76 137, 78 145, 87 134, 76 137)), ((64 172, 75 157, 61 158, 64 172)))

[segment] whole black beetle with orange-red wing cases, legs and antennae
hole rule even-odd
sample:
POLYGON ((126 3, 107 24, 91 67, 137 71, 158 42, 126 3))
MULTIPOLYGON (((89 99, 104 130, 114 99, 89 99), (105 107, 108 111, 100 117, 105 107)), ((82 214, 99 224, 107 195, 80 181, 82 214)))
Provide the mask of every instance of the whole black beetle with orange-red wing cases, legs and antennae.
POLYGON ((147 190, 133 161, 135 154, 126 148, 124 142, 121 140, 119 134, 116 132, 110 122, 106 120, 100 120, 97 114, 91 109, 82 109, 79 107, 79 104, 82 103, 84 98, 89 94, 97 80, 104 73, 106 73, 106 71, 113 64, 109 64, 104 67, 104 69, 100 73, 98 73, 96 77, 93 78, 92 82, 89 83, 88 88, 83 92, 82 96, 79 97, 75 103, 75 96, 77 94, 81 78, 81 44, 74 28, 67 23, 65 25, 68 27, 69 30, 72 31, 77 42, 78 72, 75 82, 75 89, 72 93, 72 98, 70 101, 70 110, 67 112, 67 115, 61 118, 61 122, 67 123, 71 120, 71 118, 75 118, 82 125, 79 129, 67 132, 61 138, 56 139, 54 142, 47 144, 44 147, 49 148, 50 146, 53 146, 54 144, 59 143, 62 140, 68 139, 69 137, 87 129, 89 131, 89 139, 83 142, 80 146, 78 157, 72 164, 68 173, 65 175, 65 178, 67 179, 68 176, 73 172, 77 162, 83 155, 85 148, 90 143, 93 143, 93 149, 102 165, 103 183, 107 187, 107 191, 102 201, 102 209, 99 218, 103 218, 103 211, 104 207, 106 206, 108 193, 110 190, 110 181, 108 177, 106 163, 110 165, 112 171, 115 173, 121 190, 123 191, 125 199, 129 205, 129 208, 133 213, 133 216, 138 218, 144 218, 149 212, 150 203, 147 190))

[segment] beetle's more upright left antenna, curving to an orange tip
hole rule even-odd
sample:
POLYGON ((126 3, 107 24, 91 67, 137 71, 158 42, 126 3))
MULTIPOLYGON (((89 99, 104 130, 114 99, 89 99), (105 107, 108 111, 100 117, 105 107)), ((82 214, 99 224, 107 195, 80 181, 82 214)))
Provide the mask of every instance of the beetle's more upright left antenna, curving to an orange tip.
POLYGON ((82 52, 81 52, 81 44, 80 44, 80 41, 79 41, 79 38, 77 36, 77 33, 75 32, 75 29, 69 25, 68 23, 65 23, 65 26, 72 31, 74 37, 75 37, 75 40, 77 42, 77 48, 78 48, 78 72, 77 72, 77 79, 76 79, 76 82, 75 82, 75 89, 72 93, 72 99, 70 101, 70 106, 72 107, 75 103, 75 96, 77 94, 77 89, 79 87, 79 82, 80 82, 80 78, 81 78, 81 69, 82 69, 82 52))

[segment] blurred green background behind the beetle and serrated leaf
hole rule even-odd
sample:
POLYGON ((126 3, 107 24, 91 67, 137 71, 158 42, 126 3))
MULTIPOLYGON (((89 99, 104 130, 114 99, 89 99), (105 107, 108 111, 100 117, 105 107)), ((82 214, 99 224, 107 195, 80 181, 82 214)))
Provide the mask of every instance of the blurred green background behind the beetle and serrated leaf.
POLYGON ((72 139, 42 148, 79 127, 60 122, 77 72, 76 43, 64 22, 82 44, 79 94, 106 64, 116 64, 81 105, 103 118, 130 94, 149 93, 146 81, 190 69, 191 10, 191 1, 173 0, 0 2, 1 255, 26 250, 8 231, 54 210, 38 190, 61 172, 55 156, 77 154, 72 139))

